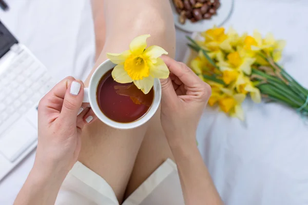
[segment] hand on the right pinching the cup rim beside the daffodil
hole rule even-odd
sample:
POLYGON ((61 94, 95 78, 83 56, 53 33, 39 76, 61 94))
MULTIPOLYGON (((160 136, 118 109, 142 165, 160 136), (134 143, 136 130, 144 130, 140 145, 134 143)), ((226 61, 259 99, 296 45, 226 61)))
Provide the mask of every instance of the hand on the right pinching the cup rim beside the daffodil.
POLYGON ((161 79, 161 123, 169 142, 196 143, 196 130, 211 88, 185 64, 161 57, 170 75, 161 79))

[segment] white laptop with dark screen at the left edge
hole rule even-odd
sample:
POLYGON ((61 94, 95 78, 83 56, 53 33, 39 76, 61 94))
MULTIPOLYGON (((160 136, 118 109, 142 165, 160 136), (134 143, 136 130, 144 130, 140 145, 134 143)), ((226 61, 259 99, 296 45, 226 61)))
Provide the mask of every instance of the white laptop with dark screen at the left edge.
POLYGON ((37 145, 37 105, 54 86, 46 67, 0 21, 0 181, 37 145))

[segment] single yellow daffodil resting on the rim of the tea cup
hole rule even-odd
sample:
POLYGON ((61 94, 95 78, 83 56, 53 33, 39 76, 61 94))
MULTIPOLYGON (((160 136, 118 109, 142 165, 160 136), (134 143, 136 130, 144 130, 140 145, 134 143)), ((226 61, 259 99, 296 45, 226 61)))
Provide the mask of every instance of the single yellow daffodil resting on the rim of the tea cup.
POLYGON ((160 58, 168 53, 159 46, 146 48, 148 37, 150 35, 134 38, 129 45, 130 50, 123 53, 107 53, 112 63, 118 64, 112 71, 113 79, 122 84, 133 82, 145 94, 153 87, 154 78, 169 76, 169 70, 160 58))

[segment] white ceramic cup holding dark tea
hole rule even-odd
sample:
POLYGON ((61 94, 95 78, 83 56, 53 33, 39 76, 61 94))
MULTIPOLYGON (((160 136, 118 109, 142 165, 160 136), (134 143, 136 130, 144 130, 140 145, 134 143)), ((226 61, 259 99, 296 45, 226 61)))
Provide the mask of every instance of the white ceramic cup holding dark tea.
POLYGON ((95 115, 103 121, 106 125, 113 127, 115 129, 121 129, 121 130, 126 130, 126 129, 133 129, 137 128, 145 122, 147 122, 157 111, 161 97, 162 97, 162 89, 161 89, 161 84, 160 80, 155 78, 154 79, 154 98, 151 107, 149 110, 146 112, 144 116, 139 118, 136 121, 132 122, 127 122, 127 123, 121 123, 114 121, 112 119, 109 119, 104 113, 101 111, 98 101, 97 101, 97 88, 100 83, 100 79, 105 75, 106 72, 114 68, 115 64, 113 64, 110 60, 106 60, 104 63, 102 63, 92 74, 92 77, 90 79, 89 87, 85 88, 85 94, 84 94, 84 103, 90 103, 90 106, 95 113, 95 115))

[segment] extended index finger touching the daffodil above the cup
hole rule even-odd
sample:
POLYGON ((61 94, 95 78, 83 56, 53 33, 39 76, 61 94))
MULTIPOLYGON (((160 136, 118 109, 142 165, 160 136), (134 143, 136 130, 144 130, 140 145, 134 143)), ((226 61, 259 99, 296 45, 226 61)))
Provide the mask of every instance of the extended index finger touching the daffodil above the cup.
POLYGON ((175 74, 186 86, 196 87, 200 85, 202 80, 185 64, 165 55, 161 56, 161 58, 164 60, 170 72, 175 74))

